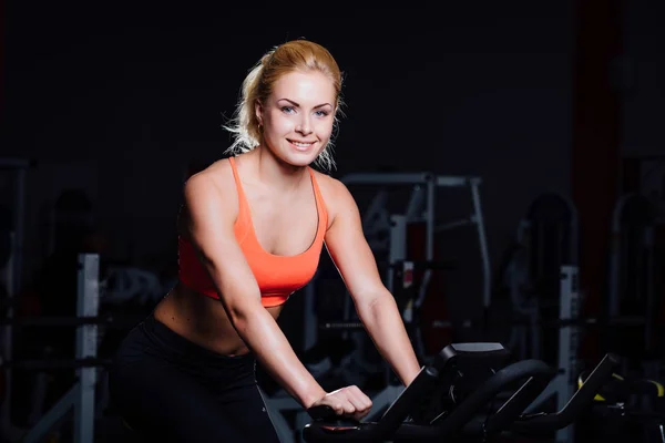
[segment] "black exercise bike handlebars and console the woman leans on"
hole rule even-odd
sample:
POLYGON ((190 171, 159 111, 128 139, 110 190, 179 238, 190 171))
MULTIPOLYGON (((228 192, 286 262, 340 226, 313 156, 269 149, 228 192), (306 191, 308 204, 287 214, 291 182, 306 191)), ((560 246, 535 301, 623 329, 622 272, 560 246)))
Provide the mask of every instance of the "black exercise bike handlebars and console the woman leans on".
POLYGON ((309 443, 339 441, 487 441, 505 432, 546 435, 569 426, 611 378, 617 363, 607 354, 570 401, 556 413, 523 414, 554 370, 539 360, 503 365, 500 343, 449 344, 423 365, 388 410, 376 421, 358 422, 327 408, 308 410, 313 421, 303 429, 309 443), (510 396, 497 408, 501 393, 510 396), (489 410, 488 410, 489 406, 489 410))

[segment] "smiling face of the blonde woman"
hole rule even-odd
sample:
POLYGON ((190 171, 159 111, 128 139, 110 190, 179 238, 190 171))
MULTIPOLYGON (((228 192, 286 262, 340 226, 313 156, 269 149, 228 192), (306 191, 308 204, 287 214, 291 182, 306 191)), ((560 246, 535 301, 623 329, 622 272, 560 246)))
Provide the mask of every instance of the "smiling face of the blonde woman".
POLYGON ((283 75, 267 100, 256 104, 264 144, 290 165, 311 164, 332 134, 335 103, 334 83, 320 72, 283 75))

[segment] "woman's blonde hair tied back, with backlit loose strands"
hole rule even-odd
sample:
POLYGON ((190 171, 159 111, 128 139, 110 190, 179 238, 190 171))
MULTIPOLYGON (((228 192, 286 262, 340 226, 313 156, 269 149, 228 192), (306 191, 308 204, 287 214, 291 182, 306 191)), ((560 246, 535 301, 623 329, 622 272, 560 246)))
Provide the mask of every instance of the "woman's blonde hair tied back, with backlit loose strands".
MULTIPOLYGON (((284 74, 293 71, 318 71, 328 76, 335 86, 336 103, 334 119, 334 135, 337 130, 338 115, 341 114, 341 82, 342 75, 337 62, 320 44, 307 40, 293 40, 283 43, 264 54, 260 61, 252 68, 241 91, 235 115, 229 125, 224 128, 233 134, 233 143, 226 153, 237 155, 254 150, 260 143, 258 119, 254 110, 255 103, 263 103, 273 92, 273 85, 284 74)), ((330 171, 335 167, 331 155, 332 140, 318 155, 315 165, 330 171)))

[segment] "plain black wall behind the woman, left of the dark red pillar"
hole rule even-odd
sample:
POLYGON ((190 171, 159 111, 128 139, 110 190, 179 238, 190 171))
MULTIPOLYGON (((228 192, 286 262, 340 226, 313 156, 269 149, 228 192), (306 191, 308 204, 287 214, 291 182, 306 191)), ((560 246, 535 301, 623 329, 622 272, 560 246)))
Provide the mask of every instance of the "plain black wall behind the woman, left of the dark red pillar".
MULTIPOLYGON (((336 176, 392 166, 482 177, 493 265, 535 195, 570 193, 567 2, 263 11, 257 20, 243 10, 7 9, 2 151, 39 161, 28 266, 43 249, 40 210, 71 186, 91 194, 110 254, 172 250, 184 169, 222 155, 221 125, 247 70, 297 37, 328 47, 346 73, 336 176)), ((442 220, 468 215, 468 194, 441 194, 442 220)), ((473 231, 440 243, 468 260, 460 290, 479 290, 473 231)))

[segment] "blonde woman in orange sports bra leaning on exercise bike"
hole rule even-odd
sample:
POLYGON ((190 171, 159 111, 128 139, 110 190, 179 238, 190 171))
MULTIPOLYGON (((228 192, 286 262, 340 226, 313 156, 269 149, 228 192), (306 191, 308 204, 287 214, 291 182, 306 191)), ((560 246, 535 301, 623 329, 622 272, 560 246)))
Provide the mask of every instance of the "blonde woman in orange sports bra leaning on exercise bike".
POLYGON ((266 53, 243 83, 234 156, 193 175, 180 217, 180 282, 117 352, 112 395, 132 427, 160 441, 277 441, 255 362, 305 409, 361 419, 357 387, 325 392, 276 319, 318 266, 324 241, 360 320, 405 385, 420 367, 383 286, 348 189, 332 166, 341 73, 323 47, 266 53))

